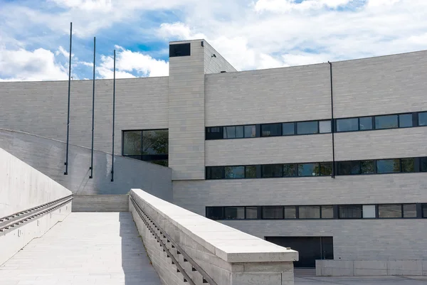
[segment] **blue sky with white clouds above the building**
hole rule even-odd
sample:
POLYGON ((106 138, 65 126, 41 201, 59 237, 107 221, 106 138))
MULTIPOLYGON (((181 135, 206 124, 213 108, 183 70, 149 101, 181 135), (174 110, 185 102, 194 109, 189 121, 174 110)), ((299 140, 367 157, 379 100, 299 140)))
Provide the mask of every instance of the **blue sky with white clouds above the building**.
POLYGON ((168 75, 169 41, 204 38, 238 70, 427 49, 426 0, 0 0, 0 81, 168 75))

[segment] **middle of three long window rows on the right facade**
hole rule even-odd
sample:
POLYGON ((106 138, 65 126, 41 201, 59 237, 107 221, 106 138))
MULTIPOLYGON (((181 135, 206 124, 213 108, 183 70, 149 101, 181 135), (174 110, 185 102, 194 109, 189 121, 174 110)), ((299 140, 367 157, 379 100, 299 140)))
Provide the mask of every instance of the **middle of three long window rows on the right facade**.
MULTIPOLYGON (((427 172, 427 157, 337 161, 336 175, 427 172)), ((332 162, 206 166, 206 179, 332 176, 332 162)))

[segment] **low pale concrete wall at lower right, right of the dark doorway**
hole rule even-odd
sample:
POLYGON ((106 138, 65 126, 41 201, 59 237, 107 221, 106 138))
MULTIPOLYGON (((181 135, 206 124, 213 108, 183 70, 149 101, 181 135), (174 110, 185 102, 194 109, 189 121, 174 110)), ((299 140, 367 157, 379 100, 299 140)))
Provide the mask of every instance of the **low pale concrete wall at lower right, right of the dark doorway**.
MULTIPOLYGON (((423 249, 420 249, 423 250, 423 249)), ((316 260, 317 276, 427 276, 427 260, 316 260)))

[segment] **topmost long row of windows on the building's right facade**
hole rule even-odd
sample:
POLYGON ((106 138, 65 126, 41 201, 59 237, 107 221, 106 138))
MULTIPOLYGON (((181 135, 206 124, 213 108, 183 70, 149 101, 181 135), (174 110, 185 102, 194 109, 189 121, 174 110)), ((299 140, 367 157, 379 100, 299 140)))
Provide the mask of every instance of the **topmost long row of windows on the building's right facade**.
POLYGON ((303 134, 327 134, 372 129, 396 129, 427 126, 427 112, 390 114, 345 119, 287 122, 273 124, 249 124, 244 126, 206 127, 206 139, 243 139, 262 136, 295 136, 303 134))

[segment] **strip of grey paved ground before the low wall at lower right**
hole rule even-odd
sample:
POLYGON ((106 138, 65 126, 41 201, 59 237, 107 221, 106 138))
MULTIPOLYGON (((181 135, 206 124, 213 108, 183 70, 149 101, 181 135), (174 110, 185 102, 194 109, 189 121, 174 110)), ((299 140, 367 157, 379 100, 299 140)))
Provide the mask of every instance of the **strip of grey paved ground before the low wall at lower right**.
POLYGON ((317 277, 314 269, 295 269, 295 285, 427 285, 427 276, 317 277))

